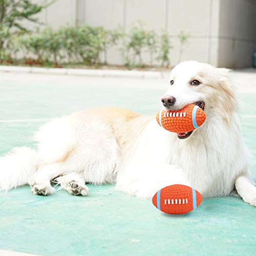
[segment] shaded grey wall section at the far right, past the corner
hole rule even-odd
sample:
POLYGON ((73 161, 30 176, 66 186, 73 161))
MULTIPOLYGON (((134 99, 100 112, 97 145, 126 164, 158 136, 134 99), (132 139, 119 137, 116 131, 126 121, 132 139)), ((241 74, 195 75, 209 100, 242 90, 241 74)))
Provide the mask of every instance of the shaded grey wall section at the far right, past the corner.
POLYGON ((218 65, 251 67, 256 51, 256 1, 221 0, 218 65))

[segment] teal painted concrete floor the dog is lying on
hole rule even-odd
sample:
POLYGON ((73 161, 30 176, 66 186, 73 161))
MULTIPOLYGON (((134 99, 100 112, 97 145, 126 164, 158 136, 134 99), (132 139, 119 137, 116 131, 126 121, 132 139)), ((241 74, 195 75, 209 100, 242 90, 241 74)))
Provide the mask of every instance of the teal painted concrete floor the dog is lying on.
MULTIPOLYGON (((109 80, 108 87, 100 88, 90 83, 0 80, 0 154, 14 146, 34 147, 31 137, 45 123, 10 120, 56 117, 99 102, 156 113, 162 88, 131 90, 122 88, 121 82, 116 87, 109 80)), ((243 134, 253 155, 253 178, 255 96, 240 94, 243 134)), ((113 190, 113 185, 89 187, 86 198, 63 190, 49 197, 34 196, 28 186, 1 192, 0 249, 46 255, 255 255, 256 208, 239 198, 204 199, 195 211, 170 216, 155 209, 151 200, 129 197, 113 190)))

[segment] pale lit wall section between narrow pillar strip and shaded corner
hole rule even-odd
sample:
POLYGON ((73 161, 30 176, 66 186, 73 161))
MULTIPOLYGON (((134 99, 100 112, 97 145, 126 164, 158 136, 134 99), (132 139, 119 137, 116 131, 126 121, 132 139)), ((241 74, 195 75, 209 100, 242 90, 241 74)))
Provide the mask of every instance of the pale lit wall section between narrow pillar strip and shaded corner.
MULTIPOLYGON (((195 59, 218 65, 214 57, 217 55, 217 41, 211 40, 211 36, 219 26, 219 16, 216 15, 216 11, 219 13, 219 0, 79 0, 79 4, 81 2, 85 11, 78 18, 79 24, 86 22, 108 29, 121 25, 127 31, 139 20, 147 30, 158 33, 165 31, 170 35, 173 47, 170 50, 170 65, 176 65, 179 59, 195 59), (181 56, 180 31, 189 34, 181 56)), ((109 51, 109 63, 123 63, 123 56, 117 54, 120 47, 109 51)), ((147 52, 143 52, 142 56, 146 63, 150 61, 147 52)))

